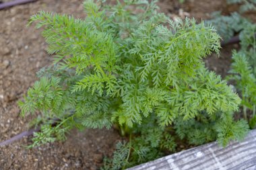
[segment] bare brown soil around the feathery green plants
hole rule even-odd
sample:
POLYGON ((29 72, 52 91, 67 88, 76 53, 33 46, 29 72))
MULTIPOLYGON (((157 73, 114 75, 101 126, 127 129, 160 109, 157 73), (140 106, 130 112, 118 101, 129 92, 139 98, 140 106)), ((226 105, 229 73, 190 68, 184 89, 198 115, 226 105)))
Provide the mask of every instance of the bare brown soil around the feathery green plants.
MULTIPOLYGON (((9 0, 5 0, 9 1, 9 0)), ((228 12, 224 0, 162 0, 160 11, 170 17, 195 17, 199 21, 217 10, 228 12)), ((3 1, 4 2, 4 1, 3 1)), ((20 118, 17 101, 36 81, 36 72, 51 63, 40 30, 26 27, 28 18, 37 11, 54 11, 83 18, 82 0, 38 0, 0 11, 0 141, 28 130, 31 117, 20 118)), ((215 54, 206 65, 222 76, 230 65, 229 46, 218 59, 215 54)), ((110 156, 121 140, 116 130, 73 130, 65 142, 55 142, 26 149, 30 138, 0 148, 0 169, 98 169, 104 156, 110 156)))

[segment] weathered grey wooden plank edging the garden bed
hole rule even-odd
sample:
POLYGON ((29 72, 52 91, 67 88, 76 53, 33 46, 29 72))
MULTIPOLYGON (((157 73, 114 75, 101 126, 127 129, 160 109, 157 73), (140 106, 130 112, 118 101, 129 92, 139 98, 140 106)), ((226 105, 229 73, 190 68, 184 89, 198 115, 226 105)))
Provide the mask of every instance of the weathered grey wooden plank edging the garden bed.
POLYGON ((127 170, 142 169, 256 169, 256 130, 242 142, 231 142, 225 148, 211 142, 127 170))

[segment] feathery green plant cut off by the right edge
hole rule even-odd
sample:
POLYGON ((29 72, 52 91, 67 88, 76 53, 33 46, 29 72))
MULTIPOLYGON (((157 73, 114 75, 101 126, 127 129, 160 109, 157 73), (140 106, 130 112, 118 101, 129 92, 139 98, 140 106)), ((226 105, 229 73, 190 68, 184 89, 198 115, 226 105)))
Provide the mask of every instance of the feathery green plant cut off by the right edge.
POLYGON ((254 128, 256 112, 256 24, 248 24, 239 35, 241 50, 232 53, 233 62, 228 79, 234 80, 236 89, 242 96, 243 115, 249 120, 251 128, 254 128), (251 116, 247 116, 247 112, 251 116), (252 117, 250 120, 249 118, 252 117))

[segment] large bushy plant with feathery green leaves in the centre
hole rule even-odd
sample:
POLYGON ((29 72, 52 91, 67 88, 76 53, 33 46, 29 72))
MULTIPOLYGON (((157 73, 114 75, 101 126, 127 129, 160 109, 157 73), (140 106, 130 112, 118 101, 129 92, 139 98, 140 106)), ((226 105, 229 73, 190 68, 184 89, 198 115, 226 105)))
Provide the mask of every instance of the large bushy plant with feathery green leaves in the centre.
POLYGON ((130 140, 105 168, 121 169, 174 151, 177 135, 191 144, 245 136, 247 124, 232 120, 241 99, 204 67, 202 59, 220 48, 211 26, 173 22, 155 1, 86 1, 84 8, 86 19, 44 11, 30 18, 55 54, 20 101, 23 116, 41 112, 33 146, 71 128, 116 124, 130 140))

